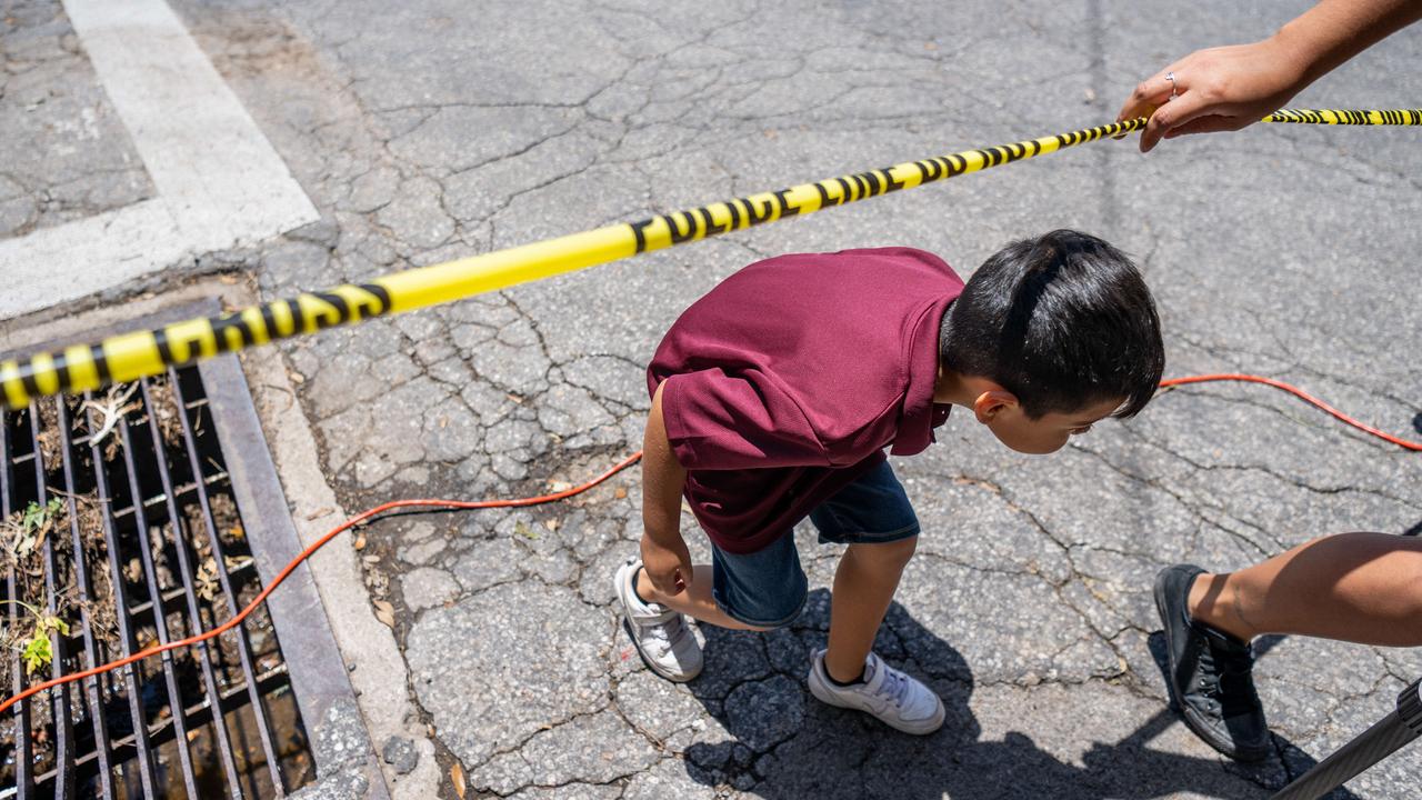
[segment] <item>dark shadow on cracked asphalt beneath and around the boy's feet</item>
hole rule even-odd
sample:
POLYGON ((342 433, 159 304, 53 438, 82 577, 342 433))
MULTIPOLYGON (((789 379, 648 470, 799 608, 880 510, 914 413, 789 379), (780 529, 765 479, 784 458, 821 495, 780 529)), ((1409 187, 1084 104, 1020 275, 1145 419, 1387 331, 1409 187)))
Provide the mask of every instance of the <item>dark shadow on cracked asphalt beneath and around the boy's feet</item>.
MULTIPOLYGON (((899 604, 889 609, 886 622, 876 652, 939 692, 947 707, 941 730, 926 737, 903 735, 865 715, 825 706, 809 695, 805 688, 809 656, 825 646, 829 628, 829 591, 816 589, 791 628, 769 633, 702 628, 707 668, 688 688, 732 740, 691 744, 685 767, 693 780, 731 786, 766 800, 1135 800, 1186 791, 1203 797, 1267 797, 1270 790, 1264 786, 1277 789, 1284 783, 1284 764, 1278 760, 1260 767, 1230 763, 1221 769, 1221 759, 1149 749, 1152 739, 1176 725, 1169 709, 1160 709, 1121 742, 1091 746, 1082 766, 1059 760, 1027 732, 980 740, 981 726, 968 706, 974 679, 963 655, 899 604)), ((1152 651, 1158 648, 1152 645, 1152 651)), ((1038 707, 1031 710, 1041 713, 1038 707)), ((1082 712, 1078 707, 1072 713, 1082 712)), ((1307 769, 1307 754, 1284 740, 1280 747, 1290 773, 1307 769)), ((1352 796, 1334 796, 1344 799, 1352 796)))

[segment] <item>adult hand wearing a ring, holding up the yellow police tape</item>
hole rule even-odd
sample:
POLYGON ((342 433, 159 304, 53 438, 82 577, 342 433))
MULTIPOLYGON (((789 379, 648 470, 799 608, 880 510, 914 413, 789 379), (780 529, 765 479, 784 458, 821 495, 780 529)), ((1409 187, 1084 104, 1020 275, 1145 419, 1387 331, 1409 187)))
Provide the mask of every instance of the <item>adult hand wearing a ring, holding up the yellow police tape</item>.
POLYGON ((1140 132, 1140 152, 1149 152, 1162 138, 1237 131, 1298 94, 1307 83, 1305 70, 1277 37, 1197 50, 1142 81, 1116 120, 1150 117, 1140 132), (1167 74, 1175 77, 1175 85, 1167 74))

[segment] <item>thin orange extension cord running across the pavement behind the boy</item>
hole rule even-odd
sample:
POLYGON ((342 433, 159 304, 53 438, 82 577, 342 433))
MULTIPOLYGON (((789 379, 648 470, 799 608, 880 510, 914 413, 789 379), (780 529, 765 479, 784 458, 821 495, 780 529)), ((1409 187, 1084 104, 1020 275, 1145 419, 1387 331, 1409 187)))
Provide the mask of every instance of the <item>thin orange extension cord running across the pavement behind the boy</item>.
MULTIPOLYGON (((1266 386, 1273 386, 1274 389, 1283 389, 1284 391, 1288 391, 1290 394, 1293 394, 1293 396, 1304 400, 1305 403, 1310 403, 1313 406, 1317 406, 1317 407, 1322 409, 1324 411, 1328 411, 1334 417, 1342 420, 1344 423, 1348 423, 1349 426, 1352 426, 1352 427, 1355 427, 1355 428, 1358 428, 1361 431, 1369 433, 1369 434, 1372 434, 1372 436, 1375 436, 1378 438, 1382 438, 1382 440, 1385 440, 1388 443, 1396 444, 1398 447, 1404 447, 1406 450, 1422 451, 1422 443, 1406 441, 1406 440, 1398 438, 1395 436, 1382 433, 1381 430, 1378 430, 1375 427, 1371 427, 1371 426, 1367 426, 1364 423, 1359 423, 1358 420, 1354 420, 1348 414, 1344 414, 1338 409, 1334 409, 1332 406, 1324 403, 1322 400, 1320 400, 1320 399, 1308 394, 1307 391, 1304 391, 1304 390, 1301 390, 1301 389, 1298 389, 1295 386, 1291 386, 1291 384, 1287 384, 1287 383, 1284 383, 1281 380, 1274 380, 1274 379, 1270 379, 1270 377, 1260 377, 1260 376, 1256 376, 1256 374, 1200 374, 1200 376, 1190 376, 1190 377, 1172 377, 1172 379, 1167 379, 1167 380, 1162 380, 1160 381, 1160 389, 1169 389, 1172 386, 1185 386, 1185 384, 1190 384, 1190 383, 1206 383, 1206 381, 1214 381, 1214 380, 1237 380, 1237 381, 1247 381, 1247 383, 1263 383, 1266 386)), ((538 497, 522 497, 522 498, 516 498, 516 500, 483 500, 483 501, 466 501, 466 500, 394 500, 391 502, 385 502, 385 504, 377 505, 377 507, 374 507, 374 508, 371 508, 368 511, 364 511, 361 514, 357 514, 356 517, 351 517, 350 520, 346 520, 344 522, 341 522, 340 525, 337 525, 336 528, 333 528, 330 532, 327 532, 326 535, 323 535, 320 540, 317 540, 314 544, 311 544, 311 547, 309 547, 304 551, 301 551, 301 555, 297 555, 290 564, 287 564, 286 568, 282 569, 282 572, 270 584, 267 584, 266 588, 263 588, 262 592, 250 604, 247 604, 247 606, 243 608, 240 614, 237 614, 232 619, 223 622, 218 628, 213 628, 212 631, 208 631, 205 633, 198 633, 196 636, 189 636, 186 639, 179 639, 176 642, 168 642, 166 645, 155 645, 155 646, 148 648, 145 651, 137 652, 137 653, 134 653, 134 655, 131 655, 128 658, 122 658, 122 659, 105 663, 102 666, 95 666, 94 669, 85 669, 84 672, 75 672, 73 675, 65 675, 63 678, 55 678, 53 680, 46 680, 44 683, 36 683, 34 686, 30 686, 24 692, 20 692, 18 695, 7 699, 4 703, 0 703, 0 715, 3 715, 4 712, 7 712, 11 706, 14 706, 16 703, 18 703, 20 700, 23 700, 26 698, 30 698, 30 696, 34 696, 34 695, 37 695, 40 692, 44 692, 46 689, 53 689, 53 688, 60 686, 63 683, 73 683, 75 680, 84 680, 85 678, 94 678, 94 676, 101 675, 104 672, 111 672, 111 670, 118 669, 121 666, 128 666, 128 665, 131 665, 131 663, 134 663, 137 660, 142 660, 145 658, 155 656, 155 655, 166 652, 166 651, 173 651, 173 649, 178 649, 178 648, 186 648, 186 646, 191 646, 191 645, 196 645, 199 642, 205 642, 208 639, 212 639, 215 636, 226 633, 228 631, 230 631, 230 629, 236 628, 237 625, 240 625, 242 621, 245 621, 247 618, 247 615, 250 615, 253 611, 256 611, 256 608, 259 605, 262 605, 263 602, 266 602, 267 595, 270 595, 273 589, 276 589, 279 585, 282 585, 282 581, 284 581, 286 577, 290 575, 292 571, 296 569, 303 561, 306 561, 307 558, 310 558, 313 552, 316 552, 317 549, 320 549, 321 547, 324 547, 326 542, 328 542, 333 538, 336 538, 337 534, 348 531, 348 530, 354 528, 356 525, 358 525, 358 524, 370 520, 371 517, 375 517, 375 515, 383 514, 385 511, 390 511, 392 508, 425 507, 425 508, 462 508, 462 510, 472 510, 472 508, 510 508, 510 507, 540 505, 540 504, 545 504, 545 502, 556 502, 559 500, 566 500, 569 497, 573 497, 574 494, 582 494, 582 493, 593 488, 594 485, 606 481, 607 478, 610 478, 610 477, 616 475, 617 473, 626 470, 627 467, 633 465, 638 458, 641 458, 641 451, 640 450, 637 453, 633 453, 627 458, 623 458, 619 464, 616 464, 614 467, 611 467, 606 473, 597 475, 596 478, 587 481, 586 484, 576 485, 573 488, 567 488, 567 490, 557 491, 557 493, 553 493, 553 494, 538 495, 538 497)))

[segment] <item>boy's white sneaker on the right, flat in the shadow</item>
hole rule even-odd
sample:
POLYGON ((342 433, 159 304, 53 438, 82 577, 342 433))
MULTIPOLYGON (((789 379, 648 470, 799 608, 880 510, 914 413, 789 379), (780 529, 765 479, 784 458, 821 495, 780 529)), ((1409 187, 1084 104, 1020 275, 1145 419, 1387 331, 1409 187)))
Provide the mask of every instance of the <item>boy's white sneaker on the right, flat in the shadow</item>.
POLYGON ((809 668, 809 693, 822 703, 857 709, 904 733, 924 736, 943 726, 943 700, 914 678, 889 666, 875 653, 865 659, 865 680, 836 686, 825 672, 825 651, 809 668))

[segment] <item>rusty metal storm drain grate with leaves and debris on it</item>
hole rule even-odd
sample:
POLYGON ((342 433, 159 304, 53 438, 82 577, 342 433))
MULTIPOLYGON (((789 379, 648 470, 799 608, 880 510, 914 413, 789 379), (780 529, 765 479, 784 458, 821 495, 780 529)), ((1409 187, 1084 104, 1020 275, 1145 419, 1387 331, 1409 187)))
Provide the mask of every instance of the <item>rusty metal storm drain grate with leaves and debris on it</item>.
MULTIPOLYGON (((229 362, 226 390, 250 409, 229 362)), ((0 693, 209 631, 262 589, 209 372, 6 414, 0 693)), ((316 777, 296 672, 263 608, 203 645, 37 695, 0 720, 0 799, 283 797, 316 777)))

